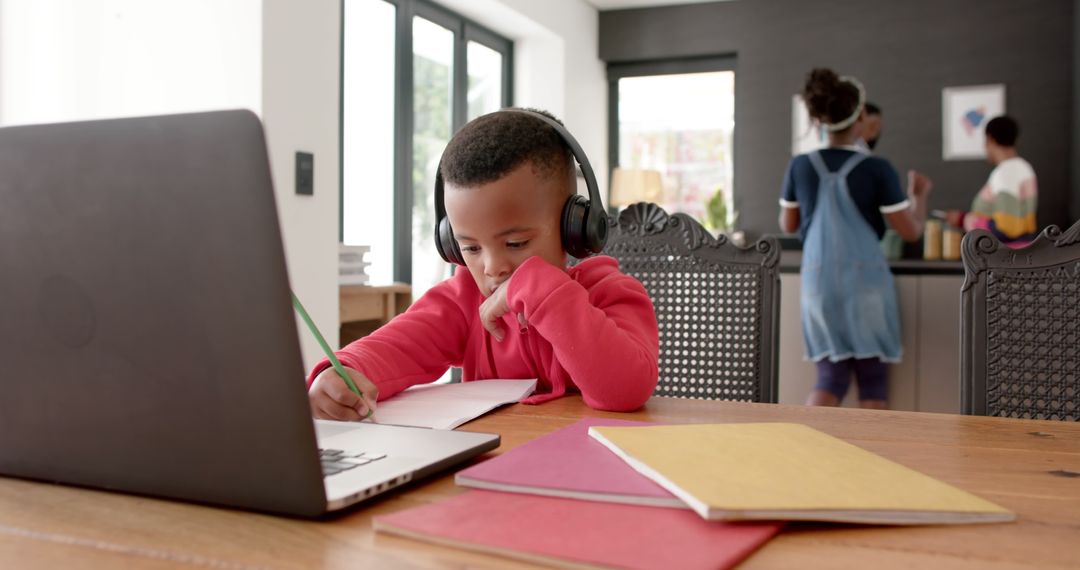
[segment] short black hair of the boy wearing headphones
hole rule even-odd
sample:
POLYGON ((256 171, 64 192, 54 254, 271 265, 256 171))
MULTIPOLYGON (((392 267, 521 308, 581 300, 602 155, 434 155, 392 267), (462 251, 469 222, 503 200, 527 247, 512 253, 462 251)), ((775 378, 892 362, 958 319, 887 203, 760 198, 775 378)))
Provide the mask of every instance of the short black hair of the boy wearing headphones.
MULTIPOLYGON (((524 110, 563 124, 548 111, 524 110)), ((541 177, 569 176, 573 154, 562 135, 536 117, 512 111, 503 109, 473 119, 454 135, 443 151, 444 184, 469 188, 494 182, 526 162, 541 177)))

